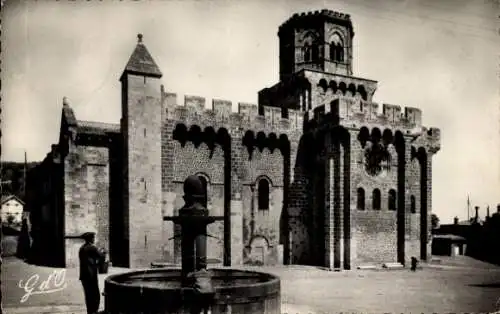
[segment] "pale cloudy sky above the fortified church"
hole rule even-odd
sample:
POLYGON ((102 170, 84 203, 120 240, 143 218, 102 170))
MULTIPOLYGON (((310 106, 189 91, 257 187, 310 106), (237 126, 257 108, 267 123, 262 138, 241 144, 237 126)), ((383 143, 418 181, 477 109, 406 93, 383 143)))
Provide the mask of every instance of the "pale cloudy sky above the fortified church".
MULTIPOLYGON (((41 161, 58 140, 62 99, 79 120, 119 123, 119 77, 137 34, 168 92, 257 103, 278 82, 279 25, 331 9, 353 21, 354 75, 374 101, 418 107, 441 129, 433 212, 442 223, 500 203, 499 10, 493 0, 6 1, 2 160, 41 161)), ((236 108, 234 108, 236 110, 236 108)), ((471 213, 472 215, 472 213, 471 213)))

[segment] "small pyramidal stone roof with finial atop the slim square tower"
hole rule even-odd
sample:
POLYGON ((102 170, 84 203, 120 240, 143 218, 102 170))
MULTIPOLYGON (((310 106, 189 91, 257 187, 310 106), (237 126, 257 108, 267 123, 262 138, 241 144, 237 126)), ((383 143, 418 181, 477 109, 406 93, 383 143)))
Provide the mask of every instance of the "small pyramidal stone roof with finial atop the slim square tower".
POLYGON ((130 56, 123 74, 131 73, 161 77, 162 73, 160 71, 160 68, 153 60, 153 57, 151 57, 151 54, 142 42, 142 34, 137 35, 137 38, 137 46, 130 56))

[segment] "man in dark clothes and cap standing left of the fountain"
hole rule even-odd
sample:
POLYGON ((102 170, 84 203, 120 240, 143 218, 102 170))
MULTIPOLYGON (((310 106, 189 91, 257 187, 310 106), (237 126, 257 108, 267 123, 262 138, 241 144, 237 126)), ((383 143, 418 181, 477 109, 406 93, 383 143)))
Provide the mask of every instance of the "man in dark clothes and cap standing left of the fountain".
POLYGON ((85 240, 85 243, 78 252, 80 258, 80 281, 85 293, 87 314, 96 314, 101 301, 98 270, 103 253, 94 245, 95 233, 86 232, 82 235, 82 238, 85 240))

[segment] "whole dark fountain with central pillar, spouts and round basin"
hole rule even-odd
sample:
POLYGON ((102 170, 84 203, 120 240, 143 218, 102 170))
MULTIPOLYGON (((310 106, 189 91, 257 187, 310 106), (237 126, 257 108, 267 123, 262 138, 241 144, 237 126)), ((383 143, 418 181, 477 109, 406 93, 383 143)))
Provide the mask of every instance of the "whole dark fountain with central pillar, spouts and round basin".
MULTIPOLYGON (((184 182, 185 206, 177 217, 165 217, 181 225, 181 269, 148 269, 109 276, 105 280, 105 312, 108 314, 166 314, 193 312, 196 294, 188 274, 207 267, 207 225, 224 217, 209 216, 201 205, 203 186, 196 176, 184 182)), ((211 313, 281 314, 280 280, 254 271, 209 269, 215 298, 211 313)))

